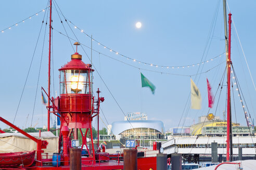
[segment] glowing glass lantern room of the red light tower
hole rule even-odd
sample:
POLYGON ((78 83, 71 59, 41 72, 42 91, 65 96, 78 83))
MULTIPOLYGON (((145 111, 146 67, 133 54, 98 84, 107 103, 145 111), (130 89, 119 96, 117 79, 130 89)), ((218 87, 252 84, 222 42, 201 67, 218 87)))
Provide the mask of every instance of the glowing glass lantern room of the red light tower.
POLYGON ((67 69, 60 71, 60 94, 88 94, 87 70, 67 69))

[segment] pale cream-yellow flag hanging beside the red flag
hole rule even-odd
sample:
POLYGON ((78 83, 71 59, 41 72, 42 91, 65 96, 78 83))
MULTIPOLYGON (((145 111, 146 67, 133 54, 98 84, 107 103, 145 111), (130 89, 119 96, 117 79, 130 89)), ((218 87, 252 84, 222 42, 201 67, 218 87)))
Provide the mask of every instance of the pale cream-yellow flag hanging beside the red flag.
POLYGON ((191 109, 201 109, 201 94, 194 81, 190 78, 191 109))

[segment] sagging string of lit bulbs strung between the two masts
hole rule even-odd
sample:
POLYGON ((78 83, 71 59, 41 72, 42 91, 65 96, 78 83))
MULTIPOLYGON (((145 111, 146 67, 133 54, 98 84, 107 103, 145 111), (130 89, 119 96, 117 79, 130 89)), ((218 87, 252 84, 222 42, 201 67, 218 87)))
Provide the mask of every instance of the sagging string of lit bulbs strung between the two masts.
POLYGON ((122 58, 126 58, 127 60, 133 61, 133 62, 137 62, 139 64, 144 64, 144 65, 148 65, 148 66, 154 66, 154 67, 159 67, 159 68, 188 68, 188 67, 194 67, 194 66, 199 66, 200 64, 204 64, 204 63, 208 63, 210 61, 213 61, 214 59, 221 57, 224 53, 221 53, 220 55, 216 55, 213 58, 200 62, 200 63, 195 63, 195 64, 190 64, 190 65, 181 65, 181 66, 166 66, 166 65, 159 65, 159 64, 153 64, 153 63, 147 63, 147 62, 143 62, 143 61, 139 61, 136 60, 134 58, 130 58, 129 56, 126 56, 124 54, 119 53, 117 50, 113 50, 112 48, 105 46, 103 43, 100 43, 98 40, 92 38, 92 36, 88 35, 87 33, 85 33, 85 31, 83 29, 80 29, 78 26, 76 26, 74 23, 72 23, 70 20, 68 20, 69 23, 71 23, 74 26, 74 29, 78 29, 80 30, 81 33, 83 33, 84 35, 86 35, 87 37, 91 38, 93 41, 95 41, 95 43, 97 43, 97 45, 103 47, 106 50, 109 50, 110 52, 116 53, 118 56, 121 56, 122 58))

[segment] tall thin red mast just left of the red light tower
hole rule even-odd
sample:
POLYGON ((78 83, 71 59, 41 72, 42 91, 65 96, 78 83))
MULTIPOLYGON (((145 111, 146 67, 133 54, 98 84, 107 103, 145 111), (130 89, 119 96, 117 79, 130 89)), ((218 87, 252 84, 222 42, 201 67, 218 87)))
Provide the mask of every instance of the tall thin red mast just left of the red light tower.
MULTIPOLYGON (((52 0, 50 0, 50 19, 49 19, 49 58, 48 58, 48 96, 50 96, 50 37, 52 36, 52 0)), ((50 131, 50 98, 48 97, 47 112, 47 131, 50 131)))

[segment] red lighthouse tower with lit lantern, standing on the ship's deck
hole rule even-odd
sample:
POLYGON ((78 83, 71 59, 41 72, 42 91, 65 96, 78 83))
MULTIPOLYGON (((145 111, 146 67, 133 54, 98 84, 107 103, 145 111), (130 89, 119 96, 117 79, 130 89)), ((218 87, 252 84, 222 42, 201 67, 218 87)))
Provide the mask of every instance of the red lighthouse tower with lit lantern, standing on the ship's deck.
POLYGON ((82 135, 82 148, 85 145, 91 160, 95 160, 93 145, 92 120, 99 114, 100 102, 104 97, 95 100, 92 94, 91 75, 94 71, 91 64, 82 61, 82 55, 77 52, 79 43, 75 43, 76 52, 71 55, 71 61, 63 65, 60 71, 60 96, 58 112, 61 117, 59 149, 63 146, 63 159, 68 161, 70 140, 78 139, 78 133, 82 135), (85 129, 83 134, 82 129, 85 129), (86 136, 89 135, 91 142, 87 147, 86 136))

